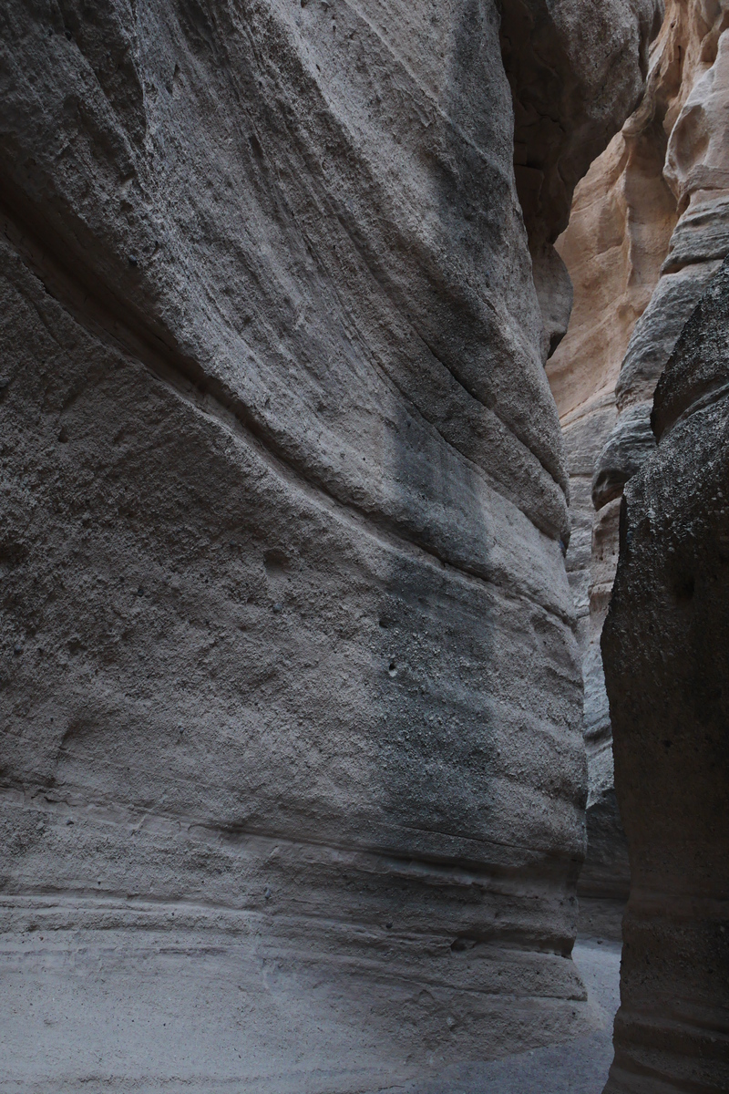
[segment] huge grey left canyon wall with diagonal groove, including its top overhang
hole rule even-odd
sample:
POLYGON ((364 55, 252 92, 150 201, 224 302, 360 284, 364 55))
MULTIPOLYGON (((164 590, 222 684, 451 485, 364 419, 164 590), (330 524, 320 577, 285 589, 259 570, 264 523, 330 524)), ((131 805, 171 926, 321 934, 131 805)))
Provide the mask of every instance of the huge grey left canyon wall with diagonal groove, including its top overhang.
POLYGON ((3 7, 3 1091, 586 1020, 542 362, 655 4, 505 9, 3 7))

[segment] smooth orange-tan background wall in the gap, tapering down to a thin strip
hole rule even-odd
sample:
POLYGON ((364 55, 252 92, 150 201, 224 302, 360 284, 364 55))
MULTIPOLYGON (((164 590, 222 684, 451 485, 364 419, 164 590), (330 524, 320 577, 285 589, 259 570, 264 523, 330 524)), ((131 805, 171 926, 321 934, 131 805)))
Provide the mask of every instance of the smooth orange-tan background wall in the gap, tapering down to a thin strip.
MULTIPOLYGON (((624 899, 628 891, 626 848, 620 827, 614 828, 612 840, 605 833, 608 818, 615 818, 616 813, 612 805, 611 731, 599 648, 607 609, 605 586, 609 597, 614 577, 611 566, 616 561, 616 512, 607 526, 604 521, 593 526, 592 488, 601 449, 616 420, 614 388, 621 362, 635 322, 658 281, 675 219, 673 198, 661 177, 663 150, 665 140, 654 126, 626 125, 579 184, 569 226, 557 242, 575 284, 568 333, 548 362, 548 375, 567 449, 573 532, 566 561, 580 620, 585 685, 589 796, 588 861, 580 880, 584 908, 596 899, 624 899), (613 529, 614 543, 610 539, 613 529), (607 572, 602 572, 602 556, 607 572), (596 612, 600 597, 604 603, 596 612), (608 850, 610 843, 612 850, 608 850), (609 862, 615 865, 612 877, 605 869, 609 862)), ((609 499, 614 497, 616 484, 611 461, 605 463, 608 466, 600 468, 604 474, 596 485, 599 491, 605 487, 613 491, 609 499)), ((618 479, 624 480, 622 463, 618 479)), ((595 913, 590 904, 590 916, 595 913)), ((604 915, 600 913, 600 918, 604 919, 604 915)))

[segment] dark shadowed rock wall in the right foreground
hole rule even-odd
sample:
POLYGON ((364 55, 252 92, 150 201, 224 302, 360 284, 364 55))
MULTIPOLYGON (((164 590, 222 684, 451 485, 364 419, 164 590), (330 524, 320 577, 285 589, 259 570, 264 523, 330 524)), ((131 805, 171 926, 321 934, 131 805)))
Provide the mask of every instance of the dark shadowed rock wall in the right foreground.
POLYGON ((729 265, 663 372, 602 636, 631 899, 608 1094, 729 1089, 729 265))

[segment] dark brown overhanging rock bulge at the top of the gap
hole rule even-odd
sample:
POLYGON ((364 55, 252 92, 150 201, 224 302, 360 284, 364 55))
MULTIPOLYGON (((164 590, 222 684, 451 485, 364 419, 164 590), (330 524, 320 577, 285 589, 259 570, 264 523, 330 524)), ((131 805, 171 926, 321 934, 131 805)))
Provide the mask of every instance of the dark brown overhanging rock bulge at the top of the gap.
POLYGON ((504 4, 515 174, 544 324, 544 359, 564 336, 573 304, 554 241, 567 225, 575 185, 640 96, 648 43, 660 16, 661 4, 652 0, 608 0, 589 18, 578 0, 504 4))

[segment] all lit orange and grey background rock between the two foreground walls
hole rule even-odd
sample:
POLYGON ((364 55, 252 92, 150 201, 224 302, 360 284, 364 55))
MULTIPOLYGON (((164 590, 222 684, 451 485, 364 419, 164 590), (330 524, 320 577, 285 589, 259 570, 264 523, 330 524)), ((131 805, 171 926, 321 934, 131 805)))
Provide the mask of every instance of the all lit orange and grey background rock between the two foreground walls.
POLYGON ((575 284, 569 330, 548 371, 571 468, 567 568, 581 620, 590 783, 587 897, 627 894, 599 640, 623 487, 655 447, 656 382, 729 252, 728 25, 727 4, 667 3, 644 98, 579 184, 557 243, 575 284))

